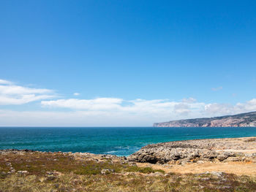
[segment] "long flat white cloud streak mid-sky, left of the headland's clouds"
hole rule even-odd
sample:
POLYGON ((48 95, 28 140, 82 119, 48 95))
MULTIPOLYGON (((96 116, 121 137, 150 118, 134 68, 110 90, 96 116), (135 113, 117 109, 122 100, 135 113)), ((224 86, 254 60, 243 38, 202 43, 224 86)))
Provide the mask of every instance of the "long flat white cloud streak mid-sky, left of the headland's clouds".
POLYGON ((97 99, 58 99, 41 101, 43 107, 60 107, 72 110, 107 111, 107 112, 132 112, 145 114, 176 114, 193 112, 195 109, 203 109, 205 104, 192 101, 169 101, 167 99, 135 99, 125 101, 119 98, 97 99))

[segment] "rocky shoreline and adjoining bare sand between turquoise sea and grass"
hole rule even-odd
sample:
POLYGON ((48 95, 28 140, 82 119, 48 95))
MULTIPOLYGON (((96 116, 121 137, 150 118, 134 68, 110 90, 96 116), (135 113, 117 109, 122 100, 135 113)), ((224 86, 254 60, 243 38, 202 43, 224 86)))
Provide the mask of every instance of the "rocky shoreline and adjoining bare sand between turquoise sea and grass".
POLYGON ((94 153, 50 152, 38 150, 0 150, 0 155, 7 153, 40 153, 40 154, 64 154, 77 159, 90 161, 102 161, 103 158, 111 158, 113 161, 136 164, 140 167, 150 166, 157 169, 165 169, 167 172, 195 173, 200 172, 199 167, 208 169, 221 169, 223 172, 241 174, 235 170, 250 169, 244 171, 249 175, 256 175, 256 137, 235 137, 222 139, 189 139, 175 142, 159 142, 141 147, 135 153, 127 156, 94 153), (230 167, 225 170, 225 166, 230 167), (232 166, 233 165, 233 166, 232 166), (214 168, 215 167, 215 168, 214 168), (244 167, 244 168, 243 168, 244 167), (183 169, 184 168, 184 169, 183 169), (198 171, 195 171, 197 170, 198 171), (190 171, 189 171, 190 170, 190 171))

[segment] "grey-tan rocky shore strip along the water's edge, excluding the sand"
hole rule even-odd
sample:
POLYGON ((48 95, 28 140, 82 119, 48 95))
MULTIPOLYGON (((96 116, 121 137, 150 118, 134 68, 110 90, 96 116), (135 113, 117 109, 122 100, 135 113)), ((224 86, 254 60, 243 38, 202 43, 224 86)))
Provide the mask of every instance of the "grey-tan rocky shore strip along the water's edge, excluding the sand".
POLYGON ((0 155, 32 153, 66 155, 78 161, 118 162, 121 164, 192 164, 203 162, 253 162, 256 164, 256 137, 225 139, 194 139, 176 142, 162 142, 146 145, 137 152, 125 156, 42 152, 34 150, 0 150, 0 155))

